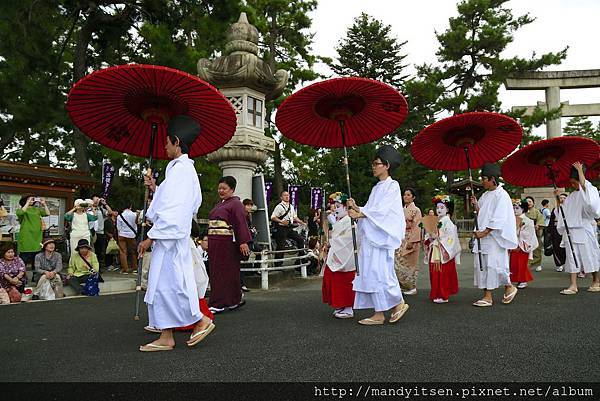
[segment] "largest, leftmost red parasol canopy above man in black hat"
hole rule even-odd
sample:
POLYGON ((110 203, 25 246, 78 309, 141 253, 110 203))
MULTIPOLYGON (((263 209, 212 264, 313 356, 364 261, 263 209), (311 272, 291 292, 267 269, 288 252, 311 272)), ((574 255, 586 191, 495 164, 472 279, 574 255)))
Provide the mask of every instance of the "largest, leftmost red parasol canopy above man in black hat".
POLYGON ((152 125, 157 125, 151 156, 166 159, 166 126, 175 115, 189 115, 201 132, 190 157, 225 145, 236 129, 229 101, 198 77, 173 68, 131 64, 98 70, 69 92, 67 111, 93 141, 131 155, 150 155, 152 125))

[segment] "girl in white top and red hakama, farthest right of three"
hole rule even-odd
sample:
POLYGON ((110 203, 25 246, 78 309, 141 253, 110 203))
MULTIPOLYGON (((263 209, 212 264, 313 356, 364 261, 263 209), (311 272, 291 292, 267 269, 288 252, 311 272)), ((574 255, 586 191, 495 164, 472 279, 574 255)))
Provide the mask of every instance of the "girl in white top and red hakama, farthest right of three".
POLYGON ((533 258, 532 252, 539 246, 533 220, 525 216, 528 208, 527 201, 513 199, 519 246, 510 250, 510 281, 517 283, 517 288, 525 288, 533 280, 528 262, 533 258))

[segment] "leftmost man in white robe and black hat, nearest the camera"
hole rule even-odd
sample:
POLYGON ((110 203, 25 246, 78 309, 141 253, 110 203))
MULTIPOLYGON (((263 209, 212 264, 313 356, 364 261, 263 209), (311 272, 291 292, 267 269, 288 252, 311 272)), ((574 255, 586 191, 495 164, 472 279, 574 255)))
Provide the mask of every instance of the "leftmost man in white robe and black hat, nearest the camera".
POLYGON ((170 351, 175 346, 173 328, 196 323, 188 346, 206 337, 215 325, 200 312, 198 290, 190 249, 192 218, 202 203, 200 182, 194 162, 187 152, 200 132, 199 125, 188 116, 176 116, 169 122, 165 149, 172 160, 165 180, 156 186, 151 177, 145 184, 154 191, 146 218, 153 225, 148 238, 139 245, 139 253, 152 246, 148 275, 149 325, 162 330, 160 338, 140 346, 140 351, 170 351))

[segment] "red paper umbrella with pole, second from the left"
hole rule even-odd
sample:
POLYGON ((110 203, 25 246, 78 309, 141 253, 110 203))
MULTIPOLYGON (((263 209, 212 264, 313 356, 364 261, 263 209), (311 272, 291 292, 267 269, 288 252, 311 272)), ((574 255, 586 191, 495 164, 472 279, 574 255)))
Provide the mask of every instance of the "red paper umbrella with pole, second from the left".
MULTIPOLYGON (((275 124, 295 142, 323 148, 344 148, 348 195, 350 174, 347 146, 373 142, 406 119, 404 96, 382 82, 367 78, 333 78, 300 89, 277 109, 275 124)), ((356 248, 356 234, 352 225, 356 248)), ((354 253, 356 272, 358 254, 354 253)))

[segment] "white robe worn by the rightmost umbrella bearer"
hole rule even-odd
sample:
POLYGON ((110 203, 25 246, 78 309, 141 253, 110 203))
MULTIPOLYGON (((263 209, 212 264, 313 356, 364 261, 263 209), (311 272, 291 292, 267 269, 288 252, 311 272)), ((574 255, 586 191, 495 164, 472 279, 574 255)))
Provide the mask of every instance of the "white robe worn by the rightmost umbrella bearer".
POLYGON ((599 204, 598 190, 588 181, 585 182, 585 191, 579 188, 578 191, 571 192, 563 203, 563 211, 579 265, 578 269, 573 260, 573 252, 561 214, 557 216, 556 229, 562 235, 560 246, 566 248, 567 259, 564 271, 567 273, 579 273, 580 271, 593 273, 597 272, 600 267, 600 249, 596 239, 596 222, 594 221, 599 204))

